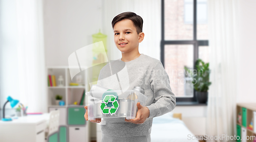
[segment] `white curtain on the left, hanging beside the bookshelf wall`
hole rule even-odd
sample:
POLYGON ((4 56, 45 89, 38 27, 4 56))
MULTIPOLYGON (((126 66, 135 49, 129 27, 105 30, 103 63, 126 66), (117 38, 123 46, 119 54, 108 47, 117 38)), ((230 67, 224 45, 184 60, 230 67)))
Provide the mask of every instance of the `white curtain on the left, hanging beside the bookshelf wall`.
POLYGON ((39 1, 16 1, 20 102, 29 112, 47 111, 43 5, 39 1))

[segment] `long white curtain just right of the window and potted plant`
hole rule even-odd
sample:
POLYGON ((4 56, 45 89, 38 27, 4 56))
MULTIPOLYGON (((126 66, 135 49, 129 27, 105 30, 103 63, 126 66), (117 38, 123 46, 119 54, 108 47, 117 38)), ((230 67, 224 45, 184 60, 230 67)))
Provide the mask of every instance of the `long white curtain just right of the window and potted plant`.
POLYGON ((208 0, 212 84, 209 87, 206 130, 210 136, 236 134, 237 3, 237 0, 208 0))

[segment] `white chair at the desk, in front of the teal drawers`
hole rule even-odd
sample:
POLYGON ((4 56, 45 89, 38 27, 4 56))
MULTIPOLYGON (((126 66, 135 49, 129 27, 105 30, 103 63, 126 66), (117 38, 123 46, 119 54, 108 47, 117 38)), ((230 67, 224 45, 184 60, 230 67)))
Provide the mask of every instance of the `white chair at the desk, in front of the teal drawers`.
POLYGON ((59 110, 50 112, 49 129, 47 134, 48 142, 58 142, 59 110))

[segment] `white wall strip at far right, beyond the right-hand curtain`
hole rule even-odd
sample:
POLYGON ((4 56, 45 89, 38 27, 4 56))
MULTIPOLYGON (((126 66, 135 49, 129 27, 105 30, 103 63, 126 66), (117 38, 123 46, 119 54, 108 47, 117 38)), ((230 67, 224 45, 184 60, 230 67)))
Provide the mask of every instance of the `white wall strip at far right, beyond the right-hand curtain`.
POLYGON ((256 1, 240 0, 237 102, 256 102, 256 1))

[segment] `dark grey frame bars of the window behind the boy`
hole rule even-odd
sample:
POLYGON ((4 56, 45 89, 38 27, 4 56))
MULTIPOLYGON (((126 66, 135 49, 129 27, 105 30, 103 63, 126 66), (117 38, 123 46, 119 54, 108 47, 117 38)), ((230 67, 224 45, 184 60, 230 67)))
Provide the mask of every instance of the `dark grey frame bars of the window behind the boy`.
MULTIPOLYGON (((193 40, 165 40, 164 39, 164 0, 161 0, 161 43, 160 58, 164 66, 164 45, 186 45, 190 44, 194 47, 193 64, 196 68, 196 60, 199 56, 199 46, 208 46, 208 40, 197 40, 197 0, 193 0, 193 40)), ((196 90, 193 91, 193 97, 176 97, 177 102, 197 102, 196 90)))

